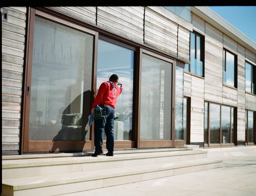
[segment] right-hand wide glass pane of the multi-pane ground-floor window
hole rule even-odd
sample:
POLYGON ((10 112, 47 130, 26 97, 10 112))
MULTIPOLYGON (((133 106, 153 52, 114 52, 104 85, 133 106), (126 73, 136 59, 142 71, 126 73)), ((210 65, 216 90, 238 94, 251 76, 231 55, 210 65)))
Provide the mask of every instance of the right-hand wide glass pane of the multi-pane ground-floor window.
POLYGON ((221 107, 221 143, 230 143, 230 107, 221 107))

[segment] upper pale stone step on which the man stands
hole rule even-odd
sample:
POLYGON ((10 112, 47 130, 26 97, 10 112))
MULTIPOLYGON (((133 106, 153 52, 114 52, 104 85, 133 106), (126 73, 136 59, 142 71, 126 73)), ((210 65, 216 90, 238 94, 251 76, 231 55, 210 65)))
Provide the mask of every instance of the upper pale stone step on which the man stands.
POLYGON ((158 163, 170 163, 182 160, 194 160, 206 158, 207 152, 202 150, 173 150, 173 149, 154 149, 154 150, 126 150, 117 151, 114 157, 100 155, 91 157, 91 153, 86 155, 81 153, 69 154, 60 153, 58 156, 52 154, 39 156, 31 155, 20 159, 3 157, 2 160, 2 179, 48 175, 68 172, 84 172, 101 169, 104 164, 105 169, 120 168, 128 166, 150 165, 158 163))

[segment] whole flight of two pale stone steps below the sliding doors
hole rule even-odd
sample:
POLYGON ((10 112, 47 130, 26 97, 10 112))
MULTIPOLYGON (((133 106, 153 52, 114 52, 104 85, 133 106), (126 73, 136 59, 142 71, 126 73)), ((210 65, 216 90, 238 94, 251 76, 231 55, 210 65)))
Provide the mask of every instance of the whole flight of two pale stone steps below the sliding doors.
POLYGON ((72 196, 91 189, 222 167, 222 160, 207 158, 202 150, 131 151, 115 152, 113 157, 45 155, 16 162, 4 157, 1 196, 72 196))

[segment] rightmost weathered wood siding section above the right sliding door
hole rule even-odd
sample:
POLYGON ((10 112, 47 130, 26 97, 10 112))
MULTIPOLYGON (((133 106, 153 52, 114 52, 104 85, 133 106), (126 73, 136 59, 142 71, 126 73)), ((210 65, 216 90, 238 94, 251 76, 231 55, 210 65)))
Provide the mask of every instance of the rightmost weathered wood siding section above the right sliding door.
POLYGON ((192 24, 162 6, 145 7, 144 44, 189 61, 192 24))

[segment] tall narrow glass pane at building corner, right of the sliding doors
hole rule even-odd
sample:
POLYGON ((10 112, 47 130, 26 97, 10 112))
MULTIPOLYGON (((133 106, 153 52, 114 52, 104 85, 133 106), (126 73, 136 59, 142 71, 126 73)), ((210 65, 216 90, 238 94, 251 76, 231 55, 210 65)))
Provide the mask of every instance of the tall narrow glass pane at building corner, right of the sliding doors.
MULTIPOLYGON (((175 140, 184 140, 183 68, 176 67, 175 84, 175 140)), ((185 117, 186 118, 186 117, 185 117)))

